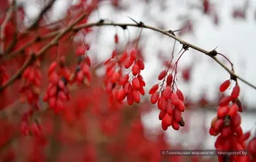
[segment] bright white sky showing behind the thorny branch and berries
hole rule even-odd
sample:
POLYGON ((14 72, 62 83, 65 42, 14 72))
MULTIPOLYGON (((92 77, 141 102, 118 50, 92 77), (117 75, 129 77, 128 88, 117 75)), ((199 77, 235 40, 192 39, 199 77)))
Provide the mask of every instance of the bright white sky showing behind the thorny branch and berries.
MULTIPOLYGON (((17 2, 24 2, 26 5, 26 15, 30 18, 36 18, 36 14, 39 13, 40 5, 38 5, 33 0, 17 0, 17 2)), ((178 15, 189 15, 194 20, 194 35, 185 35, 182 37, 187 42, 199 46, 202 49, 212 50, 216 49, 218 52, 223 53, 227 56, 233 63, 236 73, 247 79, 250 83, 256 85, 256 52, 255 52, 255 39, 256 39, 256 19, 254 19, 254 11, 256 8, 256 1, 251 1, 251 4, 247 10, 247 20, 233 19, 231 17, 232 9, 234 7, 239 7, 244 4, 244 1, 240 0, 215 0, 211 1, 216 4, 218 14, 220 16, 220 25, 216 26, 213 24, 213 20, 209 19, 207 15, 203 15, 198 9, 188 10, 188 3, 199 4, 199 0, 189 1, 189 0, 155 0, 151 1, 150 5, 145 5, 144 1, 138 0, 123 0, 121 5, 128 6, 124 11, 115 11, 109 4, 109 2, 103 2, 99 6, 99 12, 95 12, 89 19, 89 22, 96 22, 100 19, 111 19, 114 22, 130 22, 133 23, 127 16, 137 20, 137 22, 144 22, 147 25, 154 25, 159 27, 159 22, 164 23, 166 29, 179 29, 182 25, 182 21, 178 20, 178 15), (160 2, 165 2, 167 4, 166 10, 161 10, 159 4, 160 2), (153 16, 154 19, 148 18, 147 15, 153 16), (98 15, 99 14, 99 15, 98 15), (155 21, 157 20, 157 22, 155 21)), ((65 8, 71 3, 69 0, 57 0, 54 5, 53 13, 50 14, 52 19, 58 19, 61 15, 64 15, 65 8)), ((114 48, 113 44, 113 35, 117 31, 119 32, 119 39, 121 42, 126 42, 128 32, 126 32, 126 37, 124 37, 123 29, 115 27, 103 27, 98 34, 98 41, 92 42, 92 55, 97 54, 97 58, 104 60, 111 55, 112 49, 114 48)), ((139 34, 140 29, 129 28, 131 37, 135 37, 139 34)), ((147 55, 145 70, 142 73, 144 79, 147 83, 147 92, 150 86, 157 83, 157 76, 161 72, 163 66, 157 60, 157 53, 162 51, 166 58, 171 54, 171 49, 173 46, 173 39, 168 38, 168 36, 163 36, 157 32, 152 32, 148 29, 143 30, 143 35, 147 35, 146 39, 141 39, 140 46, 145 47, 144 54, 147 55)), ((88 35, 87 40, 90 40, 95 37, 95 33, 88 35)), ((179 43, 176 43, 176 53, 181 49, 179 43)), ((89 54, 90 55, 90 54, 89 54)), ((177 56, 177 55, 176 55, 177 56)), ((185 52, 182 56, 181 61, 178 64, 178 69, 182 69, 189 65, 192 62, 192 58, 197 60, 195 69, 192 70, 192 83, 190 85, 185 85, 181 82, 178 82, 178 87, 182 89, 186 95, 191 92, 193 99, 198 99, 203 89, 206 89, 206 96, 210 100, 214 100, 216 97, 216 92, 219 90, 220 83, 229 79, 229 74, 221 68, 216 62, 210 59, 208 56, 205 56, 202 53, 196 52, 193 49, 189 49, 189 52, 185 52)), ((223 60, 223 59, 221 59, 223 60)), ((249 106, 256 106, 256 90, 252 89, 250 86, 240 83, 241 92, 240 96, 243 96, 244 100, 249 106)), ((230 93, 230 91, 228 91, 230 93)), ((186 112, 185 112, 186 113, 186 112)), ((184 113, 184 114, 185 114, 184 113)), ((191 123, 195 124, 196 127, 199 127, 198 124, 202 123, 202 116, 206 116, 208 119, 206 121, 206 127, 210 126, 210 120, 212 120, 215 114, 213 113, 201 113, 194 112, 187 115, 195 116, 193 117, 191 123)), ((144 121, 146 126, 154 127, 157 130, 161 129, 161 122, 158 118, 158 110, 144 116, 144 121)), ((243 115, 242 127, 244 130, 249 130, 253 127, 255 123, 254 114, 243 115)), ((208 131, 208 130, 207 130, 208 131)), ((180 132, 173 131, 171 128, 167 130, 168 136, 187 142, 196 142, 196 140, 201 140, 199 134, 193 131, 189 134, 188 137, 181 136, 180 132)), ((200 132, 199 132, 200 133, 200 132)), ((207 132, 208 133, 208 132, 207 132)), ((206 143, 207 148, 213 147, 214 138, 207 136, 209 143, 206 143)), ((175 140, 171 140, 173 143, 175 140)), ((185 143, 188 144, 188 143, 185 143)), ((189 143, 189 146, 192 146, 192 143, 189 143)))

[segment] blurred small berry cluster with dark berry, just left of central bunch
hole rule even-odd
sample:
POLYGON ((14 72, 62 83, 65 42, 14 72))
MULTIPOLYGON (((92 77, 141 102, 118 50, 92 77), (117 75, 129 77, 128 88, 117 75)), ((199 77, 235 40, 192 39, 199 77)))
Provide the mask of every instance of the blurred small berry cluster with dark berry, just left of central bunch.
POLYGON ((86 53, 88 49, 90 49, 89 46, 79 46, 75 52, 78 56, 78 66, 75 69, 74 75, 71 75, 69 78, 71 84, 77 83, 80 86, 82 84, 88 85, 91 82, 91 59, 86 53))

